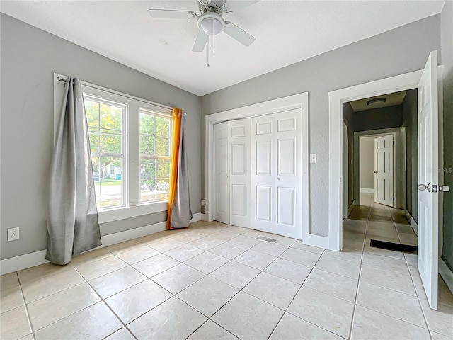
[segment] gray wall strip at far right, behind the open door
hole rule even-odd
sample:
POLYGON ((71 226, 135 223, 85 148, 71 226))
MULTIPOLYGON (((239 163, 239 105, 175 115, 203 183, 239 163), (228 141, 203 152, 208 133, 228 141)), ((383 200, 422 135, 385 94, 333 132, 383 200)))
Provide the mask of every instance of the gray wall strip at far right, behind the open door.
MULTIPOLYGON (((453 1, 445 1, 440 15, 444 64, 444 183, 453 188, 453 1)), ((444 195, 443 259, 453 271, 453 192, 444 195)))

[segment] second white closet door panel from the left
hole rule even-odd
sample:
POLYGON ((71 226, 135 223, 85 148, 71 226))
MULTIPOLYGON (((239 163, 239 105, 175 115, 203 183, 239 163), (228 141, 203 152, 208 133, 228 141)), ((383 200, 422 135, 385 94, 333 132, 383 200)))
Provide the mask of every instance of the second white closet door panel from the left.
POLYGON ((230 224, 250 227, 251 118, 229 122, 230 224))

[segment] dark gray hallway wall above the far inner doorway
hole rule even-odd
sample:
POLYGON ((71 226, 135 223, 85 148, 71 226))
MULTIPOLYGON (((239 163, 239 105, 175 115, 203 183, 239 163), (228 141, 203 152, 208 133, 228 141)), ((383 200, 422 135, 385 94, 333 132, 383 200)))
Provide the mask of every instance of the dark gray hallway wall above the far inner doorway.
POLYGON ((352 125, 355 132, 398 128, 402 124, 403 108, 401 105, 358 111, 352 115, 352 125))

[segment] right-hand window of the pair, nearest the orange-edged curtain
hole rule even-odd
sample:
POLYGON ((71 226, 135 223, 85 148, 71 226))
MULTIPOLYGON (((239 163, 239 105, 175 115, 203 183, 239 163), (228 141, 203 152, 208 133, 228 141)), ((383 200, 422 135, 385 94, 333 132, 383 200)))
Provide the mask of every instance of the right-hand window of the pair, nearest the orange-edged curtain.
POLYGON ((170 118, 140 109, 140 202, 167 200, 170 118))

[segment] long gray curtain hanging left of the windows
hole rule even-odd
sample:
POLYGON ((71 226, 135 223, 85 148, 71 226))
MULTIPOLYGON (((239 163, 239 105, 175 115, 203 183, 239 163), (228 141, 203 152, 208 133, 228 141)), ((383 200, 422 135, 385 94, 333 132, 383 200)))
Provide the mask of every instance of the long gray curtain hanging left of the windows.
POLYGON ((101 245, 80 81, 68 76, 50 167, 46 259, 66 264, 101 245))

